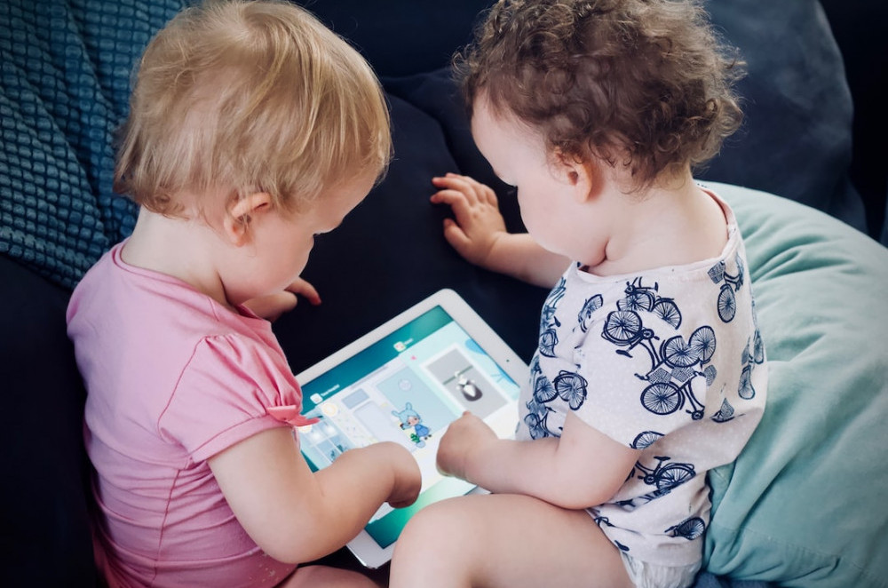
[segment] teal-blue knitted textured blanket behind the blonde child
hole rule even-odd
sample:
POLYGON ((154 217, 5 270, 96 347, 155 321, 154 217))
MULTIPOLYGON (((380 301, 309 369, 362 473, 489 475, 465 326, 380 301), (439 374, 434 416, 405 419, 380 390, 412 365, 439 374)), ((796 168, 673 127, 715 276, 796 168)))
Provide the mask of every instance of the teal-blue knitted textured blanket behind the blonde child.
POLYGON ((114 133, 134 65, 183 3, 0 2, 0 253, 73 288, 131 233, 114 133))

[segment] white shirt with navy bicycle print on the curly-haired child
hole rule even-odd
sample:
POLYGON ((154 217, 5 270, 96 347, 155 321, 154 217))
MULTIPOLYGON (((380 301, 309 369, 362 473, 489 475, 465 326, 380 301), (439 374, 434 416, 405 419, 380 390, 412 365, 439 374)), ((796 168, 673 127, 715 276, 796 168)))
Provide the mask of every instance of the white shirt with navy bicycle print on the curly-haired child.
MULTIPOLYGON (((733 211, 719 258, 599 277, 570 266, 543 306, 517 438, 559 436, 572 410, 642 449, 611 502, 588 509, 631 557, 702 557, 706 473, 737 457, 765 409, 765 347, 733 211)), ((531 529, 528 529, 532 532, 531 529)))

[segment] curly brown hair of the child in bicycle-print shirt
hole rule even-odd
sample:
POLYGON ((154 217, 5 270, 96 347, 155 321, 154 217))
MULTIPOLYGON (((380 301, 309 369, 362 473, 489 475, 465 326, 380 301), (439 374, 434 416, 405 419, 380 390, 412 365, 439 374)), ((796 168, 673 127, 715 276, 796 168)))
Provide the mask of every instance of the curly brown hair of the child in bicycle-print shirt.
POLYGON ((483 94, 638 187, 718 153, 741 123, 743 65, 698 0, 500 0, 454 59, 470 115, 483 94))

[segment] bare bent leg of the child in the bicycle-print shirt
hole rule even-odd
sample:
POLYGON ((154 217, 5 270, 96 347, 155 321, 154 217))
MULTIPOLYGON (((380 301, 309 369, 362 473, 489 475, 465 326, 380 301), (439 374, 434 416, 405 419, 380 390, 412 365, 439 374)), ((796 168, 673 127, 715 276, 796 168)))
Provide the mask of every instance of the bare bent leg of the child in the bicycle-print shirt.
POLYGON ((620 553, 588 513, 507 494, 417 513, 395 546, 390 578, 392 588, 631 586, 620 553))

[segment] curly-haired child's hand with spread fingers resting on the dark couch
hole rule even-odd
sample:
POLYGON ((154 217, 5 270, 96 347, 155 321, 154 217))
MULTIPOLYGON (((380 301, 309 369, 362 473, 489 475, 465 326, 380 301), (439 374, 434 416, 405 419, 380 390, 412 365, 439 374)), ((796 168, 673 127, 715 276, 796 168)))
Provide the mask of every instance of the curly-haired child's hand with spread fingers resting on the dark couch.
POLYGON ((490 253, 496 241, 508 234, 493 189, 468 176, 448 173, 432 178, 440 188, 432 203, 448 204, 456 220, 444 220, 444 238, 464 258, 490 269, 490 253))

